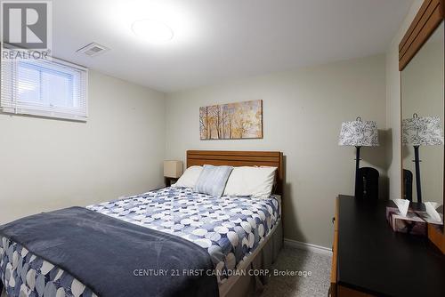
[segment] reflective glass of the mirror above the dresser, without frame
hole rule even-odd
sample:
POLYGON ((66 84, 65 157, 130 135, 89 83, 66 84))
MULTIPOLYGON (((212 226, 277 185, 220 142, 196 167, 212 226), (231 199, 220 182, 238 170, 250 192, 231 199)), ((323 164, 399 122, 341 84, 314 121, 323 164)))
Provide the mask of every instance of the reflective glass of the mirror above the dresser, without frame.
POLYGON ((444 52, 442 21, 401 71, 403 196, 413 202, 443 204, 444 52))

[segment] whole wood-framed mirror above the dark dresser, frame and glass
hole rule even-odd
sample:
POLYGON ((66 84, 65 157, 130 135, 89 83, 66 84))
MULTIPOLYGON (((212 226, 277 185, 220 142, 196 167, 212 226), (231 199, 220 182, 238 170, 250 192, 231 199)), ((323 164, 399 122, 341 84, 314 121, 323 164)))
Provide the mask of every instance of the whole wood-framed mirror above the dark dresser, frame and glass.
POLYGON ((424 0, 399 44, 402 195, 417 202, 413 207, 425 208, 429 216, 425 217, 428 238, 442 253, 445 253, 445 226, 440 214, 443 216, 445 211, 444 20, 445 0, 424 0))

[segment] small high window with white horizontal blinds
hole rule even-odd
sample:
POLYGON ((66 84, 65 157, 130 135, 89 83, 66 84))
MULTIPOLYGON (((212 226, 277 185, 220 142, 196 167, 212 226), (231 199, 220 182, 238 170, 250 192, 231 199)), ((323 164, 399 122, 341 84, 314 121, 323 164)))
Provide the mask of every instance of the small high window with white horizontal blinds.
POLYGON ((86 121, 88 70, 61 60, 2 60, 6 113, 86 121))

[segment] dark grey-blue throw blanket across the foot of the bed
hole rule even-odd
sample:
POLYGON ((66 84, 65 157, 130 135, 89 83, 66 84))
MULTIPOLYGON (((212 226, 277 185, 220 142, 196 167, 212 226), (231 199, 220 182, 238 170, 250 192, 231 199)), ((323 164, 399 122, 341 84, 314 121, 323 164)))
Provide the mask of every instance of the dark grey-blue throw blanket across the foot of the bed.
POLYGON ((0 227, 0 235, 66 270, 101 297, 218 296, 205 249, 82 207, 12 221, 0 227), (160 271, 166 275, 159 276, 160 271))

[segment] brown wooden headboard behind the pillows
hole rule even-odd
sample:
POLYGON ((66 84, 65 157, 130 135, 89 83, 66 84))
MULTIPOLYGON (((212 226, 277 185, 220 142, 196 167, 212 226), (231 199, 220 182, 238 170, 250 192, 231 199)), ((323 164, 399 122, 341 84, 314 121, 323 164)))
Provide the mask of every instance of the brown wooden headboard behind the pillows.
POLYGON ((273 166, 277 167, 275 193, 283 195, 283 153, 279 151, 188 150, 187 168, 193 165, 273 166))

